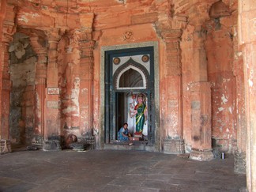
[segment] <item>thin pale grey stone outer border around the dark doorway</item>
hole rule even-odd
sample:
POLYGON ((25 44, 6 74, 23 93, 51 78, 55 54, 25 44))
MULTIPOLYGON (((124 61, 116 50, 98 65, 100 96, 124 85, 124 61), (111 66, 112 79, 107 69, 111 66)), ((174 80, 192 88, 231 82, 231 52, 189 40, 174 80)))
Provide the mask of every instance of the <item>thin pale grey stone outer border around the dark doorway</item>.
MULTIPOLYGON (((160 121, 160 113, 159 113, 159 47, 157 41, 145 42, 145 43, 130 43, 123 45, 115 45, 115 46, 106 46, 101 47, 100 49, 100 149, 105 149, 106 139, 105 139, 105 105, 106 105, 106 95, 105 95, 105 62, 106 62, 106 52, 107 51, 120 51, 126 50, 130 48, 142 48, 142 47, 153 47, 153 55, 154 55, 154 111, 155 114, 155 122, 154 122, 154 143, 153 148, 149 150, 160 151, 160 130, 159 130, 159 121, 160 121)), ((108 148, 109 149, 109 148, 108 148)), ((147 150, 147 149, 146 149, 147 150)))

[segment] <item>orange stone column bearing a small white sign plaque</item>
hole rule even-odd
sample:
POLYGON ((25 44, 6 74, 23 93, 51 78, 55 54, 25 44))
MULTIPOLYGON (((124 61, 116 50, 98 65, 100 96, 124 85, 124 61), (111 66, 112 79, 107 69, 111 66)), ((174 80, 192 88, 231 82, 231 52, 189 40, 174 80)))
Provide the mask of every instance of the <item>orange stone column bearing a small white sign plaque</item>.
POLYGON ((58 88, 58 42, 61 39, 58 28, 46 32, 49 50, 47 65, 47 88, 44 107, 44 142, 43 150, 59 150, 60 112, 58 88))

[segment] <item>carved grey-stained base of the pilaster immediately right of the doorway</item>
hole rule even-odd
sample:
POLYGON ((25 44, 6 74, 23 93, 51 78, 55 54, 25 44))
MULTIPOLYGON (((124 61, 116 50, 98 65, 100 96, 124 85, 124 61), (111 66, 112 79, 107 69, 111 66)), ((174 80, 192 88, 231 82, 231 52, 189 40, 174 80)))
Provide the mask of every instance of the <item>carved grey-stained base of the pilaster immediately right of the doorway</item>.
POLYGON ((185 152, 183 139, 164 139, 163 152, 167 154, 182 154, 185 152))

